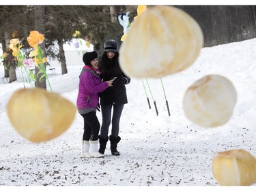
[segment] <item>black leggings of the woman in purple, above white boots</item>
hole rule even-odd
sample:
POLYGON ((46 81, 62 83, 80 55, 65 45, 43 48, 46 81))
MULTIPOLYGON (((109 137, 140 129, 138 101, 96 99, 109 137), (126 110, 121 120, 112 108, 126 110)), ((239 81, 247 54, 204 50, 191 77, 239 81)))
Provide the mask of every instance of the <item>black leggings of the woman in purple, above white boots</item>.
POLYGON ((81 114, 84 121, 83 141, 97 141, 100 131, 100 122, 96 116, 96 111, 81 114))

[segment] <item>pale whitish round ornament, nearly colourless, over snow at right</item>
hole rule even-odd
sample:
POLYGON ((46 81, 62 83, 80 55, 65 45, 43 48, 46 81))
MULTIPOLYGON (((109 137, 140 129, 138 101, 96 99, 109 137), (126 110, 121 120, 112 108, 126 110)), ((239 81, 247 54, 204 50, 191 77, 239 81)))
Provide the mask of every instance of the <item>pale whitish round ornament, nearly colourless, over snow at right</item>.
POLYGON ((215 127, 229 120, 236 100, 236 89, 226 77, 207 75, 186 90, 183 108, 195 124, 215 127))

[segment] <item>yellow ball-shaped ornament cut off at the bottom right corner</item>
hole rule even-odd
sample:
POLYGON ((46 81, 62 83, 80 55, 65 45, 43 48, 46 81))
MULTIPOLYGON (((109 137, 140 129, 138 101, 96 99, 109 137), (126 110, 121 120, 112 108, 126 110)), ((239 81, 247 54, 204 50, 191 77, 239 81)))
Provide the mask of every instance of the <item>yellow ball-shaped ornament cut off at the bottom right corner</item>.
POLYGON ((256 181, 256 159, 242 149, 218 152, 212 173, 221 186, 251 186, 256 181))

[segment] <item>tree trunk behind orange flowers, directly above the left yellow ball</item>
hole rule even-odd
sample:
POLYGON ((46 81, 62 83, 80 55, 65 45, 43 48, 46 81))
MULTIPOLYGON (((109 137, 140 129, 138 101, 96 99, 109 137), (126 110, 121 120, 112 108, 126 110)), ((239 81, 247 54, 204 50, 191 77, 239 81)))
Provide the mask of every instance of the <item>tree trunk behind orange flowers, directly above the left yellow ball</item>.
MULTIPOLYGON (((39 6, 35 5, 35 31, 38 31, 40 34, 44 35, 44 5, 39 6)), ((42 51, 44 51, 44 56, 45 56, 45 41, 40 44, 40 48, 42 51)), ((38 75, 38 67, 35 67, 35 76, 36 76, 36 81, 35 81, 35 87, 36 88, 44 88, 46 89, 46 78, 43 77, 42 82, 39 81, 40 77, 42 76, 42 73, 38 75)))

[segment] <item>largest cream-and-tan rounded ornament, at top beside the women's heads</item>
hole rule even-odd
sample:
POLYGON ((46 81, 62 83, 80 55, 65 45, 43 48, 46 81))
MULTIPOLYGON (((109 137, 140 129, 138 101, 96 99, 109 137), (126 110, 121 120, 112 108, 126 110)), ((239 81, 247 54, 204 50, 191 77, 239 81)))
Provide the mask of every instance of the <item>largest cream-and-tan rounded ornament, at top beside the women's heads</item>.
POLYGON ((192 65, 203 47, 199 24, 171 6, 147 9, 130 25, 119 63, 131 77, 160 78, 192 65))

